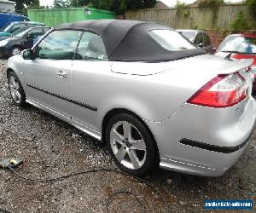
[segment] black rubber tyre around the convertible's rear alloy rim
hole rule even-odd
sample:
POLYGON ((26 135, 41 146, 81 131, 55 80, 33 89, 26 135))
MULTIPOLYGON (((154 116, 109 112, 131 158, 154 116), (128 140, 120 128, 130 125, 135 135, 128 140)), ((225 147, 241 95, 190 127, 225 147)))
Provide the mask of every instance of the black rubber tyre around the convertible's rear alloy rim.
POLYGON ((139 121, 137 118, 129 114, 121 113, 109 120, 106 128, 105 140, 107 142, 108 150, 110 151, 114 162, 118 164, 121 170, 125 170, 125 172, 127 173, 130 173, 134 176, 146 176, 148 173, 152 172, 156 168, 156 166, 159 164, 158 149, 156 147, 154 139, 149 134, 144 124, 141 121, 139 121), (110 145, 110 131, 113 128, 113 125, 118 123, 119 121, 126 121, 134 125, 137 128, 137 130, 139 130, 139 132, 142 134, 143 140, 146 144, 146 151, 147 151, 146 160, 143 166, 137 170, 131 170, 129 168, 126 168, 123 164, 119 163, 119 161, 117 160, 117 158, 115 158, 113 154, 113 150, 110 145))

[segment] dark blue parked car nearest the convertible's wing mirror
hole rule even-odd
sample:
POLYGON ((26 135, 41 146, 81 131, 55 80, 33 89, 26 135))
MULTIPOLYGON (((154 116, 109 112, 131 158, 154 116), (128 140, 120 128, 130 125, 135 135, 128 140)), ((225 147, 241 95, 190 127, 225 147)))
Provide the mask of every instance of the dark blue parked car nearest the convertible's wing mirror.
POLYGON ((35 26, 28 29, 21 28, 18 31, 20 33, 14 33, 13 37, 2 37, 2 39, 0 37, 0 55, 20 55, 23 49, 32 48, 34 39, 44 35, 49 30, 50 27, 46 26, 35 26))

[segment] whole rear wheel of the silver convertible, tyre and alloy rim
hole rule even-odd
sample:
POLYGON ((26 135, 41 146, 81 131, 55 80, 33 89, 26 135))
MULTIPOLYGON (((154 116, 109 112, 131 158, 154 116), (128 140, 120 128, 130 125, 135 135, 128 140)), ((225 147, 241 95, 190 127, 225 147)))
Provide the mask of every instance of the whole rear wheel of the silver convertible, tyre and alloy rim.
POLYGON ((106 142, 115 163, 133 176, 146 176, 159 165, 158 148, 145 125, 130 114, 111 118, 106 142))

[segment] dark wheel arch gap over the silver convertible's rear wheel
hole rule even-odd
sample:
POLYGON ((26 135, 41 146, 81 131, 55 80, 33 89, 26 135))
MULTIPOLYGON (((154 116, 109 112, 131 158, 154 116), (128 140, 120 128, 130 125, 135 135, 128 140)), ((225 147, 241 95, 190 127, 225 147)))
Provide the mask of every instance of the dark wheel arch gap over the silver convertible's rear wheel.
POLYGON ((107 128, 108 121, 111 118, 113 118, 113 116, 115 116, 117 114, 120 114, 120 113, 127 113, 127 114, 129 114, 131 116, 134 116, 135 118, 137 118, 145 126, 145 128, 148 130, 148 133, 149 133, 152 141, 154 141, 154 146, 157 149, 158 158, 160 159, 160 153, 159 153, 159 149, 158 149, 157 143, 156 143, 156 141, 154 139, 154 134, 149 129, 148 125, 135 112, 131 112, 130 110, 127 110, 125 108, 113 108, 112 110, 108 111, 105 114, 105 116, 104 116, 104 118, 102 120, 102 143, 103 144, 106 143, 105 137, 106 137, 106 128, 107 128))

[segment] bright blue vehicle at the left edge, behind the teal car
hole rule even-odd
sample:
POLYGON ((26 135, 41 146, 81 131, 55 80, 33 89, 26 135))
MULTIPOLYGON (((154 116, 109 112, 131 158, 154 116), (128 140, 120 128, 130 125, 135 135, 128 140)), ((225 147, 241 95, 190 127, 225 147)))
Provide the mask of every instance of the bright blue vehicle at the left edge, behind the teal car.
POLYGON ((0 30, 9 26, 11 22, 15 21, 30 21, 26 16, 21 14, 6 14, 0 13, 0 30))

